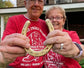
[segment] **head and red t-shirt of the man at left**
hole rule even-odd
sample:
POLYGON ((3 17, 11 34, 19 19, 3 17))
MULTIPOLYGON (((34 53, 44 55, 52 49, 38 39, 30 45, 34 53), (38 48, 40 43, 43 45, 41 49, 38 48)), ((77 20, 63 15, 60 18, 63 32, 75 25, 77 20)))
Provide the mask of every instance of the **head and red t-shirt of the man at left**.
MULTIPOLYGON (((9 18, 6 29, 3 34, 4 39, 7 35, 13 33, 21 33, 22 28, 27 20, 31 22, 27 36, 30 39, 31 48, 41 50, 44 48, 43 41, 48 33, 47 25, 44 20, 39 19, 43 12, 44 0, 24 0, 27 13, 24 15, 16 15, 9 18)), ((43 66, 43 57, 33 57, 29 54, 17 57, 10 66, 14 68, 34 68, 43 66)))

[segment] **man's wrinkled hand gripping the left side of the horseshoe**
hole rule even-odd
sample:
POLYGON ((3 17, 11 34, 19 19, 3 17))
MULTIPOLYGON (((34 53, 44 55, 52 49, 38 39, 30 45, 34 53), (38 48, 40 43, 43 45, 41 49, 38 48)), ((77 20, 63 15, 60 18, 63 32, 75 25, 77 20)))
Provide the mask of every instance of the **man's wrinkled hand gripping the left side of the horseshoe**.
POLYGON ((0 64, 9 64, 16 57, 25 56, 24 48, 29 48, 29 39, 18 33, 8 35, 0 43, 0 64))

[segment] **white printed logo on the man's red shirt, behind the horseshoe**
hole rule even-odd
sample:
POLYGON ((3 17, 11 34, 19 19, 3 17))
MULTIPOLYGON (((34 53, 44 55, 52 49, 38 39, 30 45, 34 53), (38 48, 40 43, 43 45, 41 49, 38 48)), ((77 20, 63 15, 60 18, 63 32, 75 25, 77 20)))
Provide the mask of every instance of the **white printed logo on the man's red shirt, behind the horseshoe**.
MULTIPOLYGON (((38 27, 30 27, 27 31, 28 38, 30 39, 31 49, 40 51, 44 49, 43 41, 46 39, 46 35, 38 27)), ((27 55, 23 57, 21 66, 39 66, 43 64, 43 57, 34 57, 27 55)))

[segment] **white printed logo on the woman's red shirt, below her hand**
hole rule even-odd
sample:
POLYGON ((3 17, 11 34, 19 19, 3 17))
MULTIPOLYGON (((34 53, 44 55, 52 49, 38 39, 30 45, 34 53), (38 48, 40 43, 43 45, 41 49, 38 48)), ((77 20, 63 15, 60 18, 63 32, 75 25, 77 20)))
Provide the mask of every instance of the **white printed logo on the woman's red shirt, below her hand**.
POLYGON ((52 50, 43 58, 45 68, 62 68, 61 56, 52 50))

